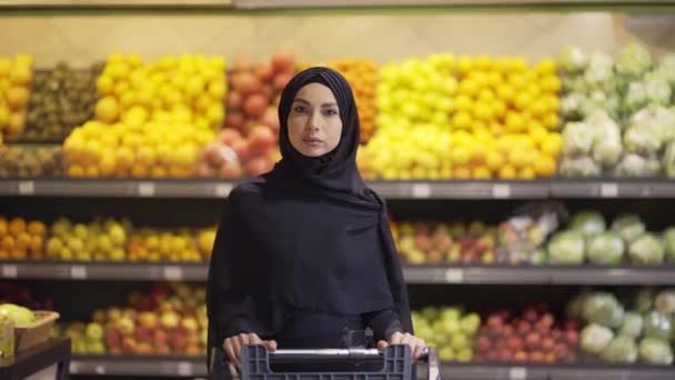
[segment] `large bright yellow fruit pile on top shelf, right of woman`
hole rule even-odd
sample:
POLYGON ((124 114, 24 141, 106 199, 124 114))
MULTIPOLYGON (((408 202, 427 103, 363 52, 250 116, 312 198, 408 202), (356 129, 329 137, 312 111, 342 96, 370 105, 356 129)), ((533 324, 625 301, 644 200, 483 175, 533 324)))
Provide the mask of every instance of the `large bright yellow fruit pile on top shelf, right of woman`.
POLYGON ((556 69, 552 59, 528 67, 522 58, 453 54, 384 66, 367 176, 552 177, 562 146, 556 69))

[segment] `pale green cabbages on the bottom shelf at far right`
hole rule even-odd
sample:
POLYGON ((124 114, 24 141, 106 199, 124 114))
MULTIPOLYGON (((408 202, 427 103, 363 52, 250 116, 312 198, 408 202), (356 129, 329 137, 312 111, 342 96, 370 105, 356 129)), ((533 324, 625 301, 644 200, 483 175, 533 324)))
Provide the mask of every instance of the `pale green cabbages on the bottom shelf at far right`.
POLYGON ((585 323, 581 331, 585 358, 672 364, 675 289, 645 288, 622 296, 586 290, 567 304, 567 314, 585 323))

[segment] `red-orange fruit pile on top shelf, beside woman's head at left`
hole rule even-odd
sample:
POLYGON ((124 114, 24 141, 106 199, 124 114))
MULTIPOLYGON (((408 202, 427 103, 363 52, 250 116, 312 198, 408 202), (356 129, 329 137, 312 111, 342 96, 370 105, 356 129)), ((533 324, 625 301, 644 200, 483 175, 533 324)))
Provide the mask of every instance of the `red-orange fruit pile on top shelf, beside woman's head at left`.
POLYGON ((203 150, 199 177, 256 177, 272 169, 279 159, 279 97, 294 72, 294 54, 286 50, 276 51, 271 61, 236 58, 230 74, 225 128, 203 150))

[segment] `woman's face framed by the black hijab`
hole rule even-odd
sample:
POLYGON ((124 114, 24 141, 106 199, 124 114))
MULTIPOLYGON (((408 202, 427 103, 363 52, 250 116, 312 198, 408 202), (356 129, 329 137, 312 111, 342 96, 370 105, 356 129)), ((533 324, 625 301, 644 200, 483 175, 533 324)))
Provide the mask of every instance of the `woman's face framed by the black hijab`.
POLYGON ((289 140, 306 157, 320 157, 338 147, 342 119, 330 88, 310 83, 295 94, 289 113, 289 140))

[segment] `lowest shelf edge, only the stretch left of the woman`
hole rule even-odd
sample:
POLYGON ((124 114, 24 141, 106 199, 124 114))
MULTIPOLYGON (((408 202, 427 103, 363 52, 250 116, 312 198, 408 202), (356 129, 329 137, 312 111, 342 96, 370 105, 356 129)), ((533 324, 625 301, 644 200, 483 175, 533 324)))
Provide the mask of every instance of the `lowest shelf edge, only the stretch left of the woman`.
POLYGON ((71 374, 204 377, 202 357, 73 357, 71 374))

